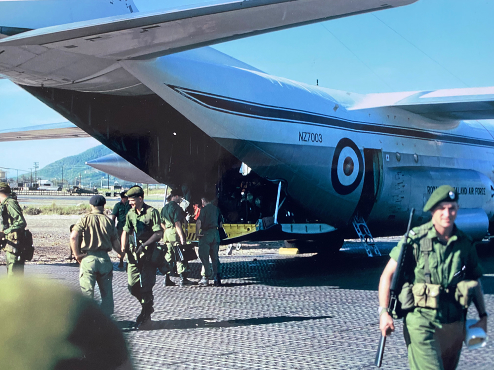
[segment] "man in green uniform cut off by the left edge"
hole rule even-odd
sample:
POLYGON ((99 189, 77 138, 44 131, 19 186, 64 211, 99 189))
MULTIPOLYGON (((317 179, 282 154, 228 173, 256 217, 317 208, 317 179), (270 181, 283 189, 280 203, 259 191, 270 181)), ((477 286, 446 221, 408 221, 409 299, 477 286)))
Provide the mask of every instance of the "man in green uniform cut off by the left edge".
MULTIPOLYGON (((16 200, 10 196, 10 186, 7 183, 0 183, 0 234, 5 235, 5 242, 1 246, 5 250, 7 262, 7 274, 24 274, 24 259, 16 256, 19 250, 19 238, 26 228, 26 220, 22 214, 21 207, 16 200)), ((0 239, 2 239, 0 237, 0 239)))

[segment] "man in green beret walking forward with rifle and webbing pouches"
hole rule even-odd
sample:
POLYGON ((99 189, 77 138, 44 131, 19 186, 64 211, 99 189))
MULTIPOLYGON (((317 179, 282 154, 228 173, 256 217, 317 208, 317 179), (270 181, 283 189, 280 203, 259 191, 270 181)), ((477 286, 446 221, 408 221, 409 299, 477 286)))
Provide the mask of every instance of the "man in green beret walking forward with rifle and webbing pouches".
MULTIPOLYGON (((458 193, 449 185, 439 186, 424 206, 432 220, 414 227, 408 242, 413 256, 405 266, 410 271, 409 293, 412 308, 404 318, 404 336, 411 370, 454 370, 458 365, 465 338, 465 317, 473 301, 480 320, 474 325, 487 333, 487 312, 482 276, 472 239, 459 230, 454 221, 458 211, 458 193)), ((379 329, 382 335, 394 331, 387 310, 389 287, 396 270, 402 239, 390 253, 379 282, 379 329)))

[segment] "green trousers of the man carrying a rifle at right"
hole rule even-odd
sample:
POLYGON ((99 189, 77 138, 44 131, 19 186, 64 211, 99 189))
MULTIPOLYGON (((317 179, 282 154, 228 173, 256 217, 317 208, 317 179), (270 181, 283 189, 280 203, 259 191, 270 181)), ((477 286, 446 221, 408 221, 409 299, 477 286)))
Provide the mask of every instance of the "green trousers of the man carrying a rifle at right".
POLYGON ((454 370, 465 338, 465 322, 438 327, 413 311, 404 320, 403 333, 411 370, 454 370))

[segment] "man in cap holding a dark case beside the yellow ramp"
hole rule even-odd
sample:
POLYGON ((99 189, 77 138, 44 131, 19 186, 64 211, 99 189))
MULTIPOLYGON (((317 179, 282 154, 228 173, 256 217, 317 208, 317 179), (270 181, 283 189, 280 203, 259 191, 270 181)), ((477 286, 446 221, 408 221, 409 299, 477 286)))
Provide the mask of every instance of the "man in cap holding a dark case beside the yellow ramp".
MULTIPOLYGON (((178 205, 182 200, 182 195, 177 190, 171 190, 170 195, 166 198, 168 203, 161 210, 161 220, 162 227, 165 229, 165 236, 163 241, 166 244, 166 255, 165 259, 168 262, 173 263, 176 259, 175 249, 179 245, 184 245, 187 242, 186 235, 182 229, 182 225, 185 222, 185 213, 178 205)), ((180 287, 185 287, 188 285, 193 285, 194 283, 187 279, 187 261, 176 261, 177 263, 177 273, 180 275, 180 282, 178 285, 180 287)), ((165 275, 165 281, 163 282, 165 286, 173 286, 170 280, 170 275, 165 275)))

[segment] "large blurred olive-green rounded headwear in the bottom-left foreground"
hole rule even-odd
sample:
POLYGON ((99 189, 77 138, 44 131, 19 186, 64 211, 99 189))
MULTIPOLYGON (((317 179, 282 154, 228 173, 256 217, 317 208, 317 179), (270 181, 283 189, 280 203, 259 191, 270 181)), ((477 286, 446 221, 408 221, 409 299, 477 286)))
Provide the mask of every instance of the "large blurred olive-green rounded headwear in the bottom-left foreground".
POLYGON ((80 292, 53 280, 0 279, 3 370, 132 370, 124 335, 80 292))

